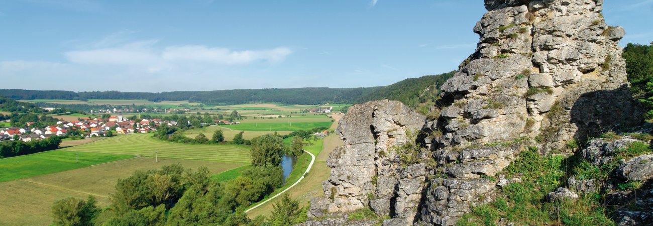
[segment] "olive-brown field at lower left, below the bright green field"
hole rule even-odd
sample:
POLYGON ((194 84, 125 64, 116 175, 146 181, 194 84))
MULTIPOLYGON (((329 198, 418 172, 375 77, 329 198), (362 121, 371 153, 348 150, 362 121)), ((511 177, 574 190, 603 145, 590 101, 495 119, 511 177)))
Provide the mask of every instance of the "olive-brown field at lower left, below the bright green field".
MULTIPOLYGON (((26 156, 26 155, 24 155, 26 156)), ((181 163, 184 168, 206 166, 213 174, 242 167, 242 163, 194 161, 135 157, 113 161, 76 170, 0 183, 0 225, 50 225, 50 206, 66 197, 86 199, 93 195, 98 205, 110 204, 108 194, 113 193, 118 178, 127 178, 136 170, 159 169, 163 165, 181 163), (99 176, 101 175, 101 176, 99 176), (17 211, 20 210, 20 211, 17 211)))

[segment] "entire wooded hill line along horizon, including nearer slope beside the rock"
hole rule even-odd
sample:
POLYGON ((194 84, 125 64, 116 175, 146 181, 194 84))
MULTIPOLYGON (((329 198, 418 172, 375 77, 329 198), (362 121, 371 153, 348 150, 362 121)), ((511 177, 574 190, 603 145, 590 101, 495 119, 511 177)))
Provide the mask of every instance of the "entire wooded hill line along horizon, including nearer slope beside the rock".
POLYGON ((364 103, 389 99, 417 106, 434 99, 439 87, 451 73, 408 78, 390 86, 370 88, 290 88, 290 89, 229 89, 215 91, 171 91, 161 93, 121 91, 61 91, 0 89, 0 96, 17 100, 33 99, 142 99, 148 101, 190 101, 204 105, 239 105, 253 102, 285 105, 318 105, 321 103, 364 103))

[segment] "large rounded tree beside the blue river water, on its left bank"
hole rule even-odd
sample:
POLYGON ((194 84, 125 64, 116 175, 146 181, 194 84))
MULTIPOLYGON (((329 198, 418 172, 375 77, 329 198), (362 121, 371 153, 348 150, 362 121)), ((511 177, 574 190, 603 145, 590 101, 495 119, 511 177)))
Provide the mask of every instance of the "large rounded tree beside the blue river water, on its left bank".
POLYGON ((283 138, 278 133, 268 133, 252 140, 249 157, 253 166, 276 167, 281 164, 282 154, 283 138))

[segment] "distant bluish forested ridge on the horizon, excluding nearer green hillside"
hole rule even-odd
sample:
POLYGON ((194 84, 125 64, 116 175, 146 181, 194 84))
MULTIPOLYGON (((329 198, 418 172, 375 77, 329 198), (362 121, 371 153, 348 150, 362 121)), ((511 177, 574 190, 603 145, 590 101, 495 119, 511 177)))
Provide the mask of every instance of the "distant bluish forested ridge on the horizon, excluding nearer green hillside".
POLYGON ((373 88, 291 88, 291 89, 231 89, 217 91, 172 91, 162 93, 59 90, 0 89, 0 96, 12 99, 145 99, 148 101, 191 101, 205 105, 238 105, 251 102, 317 105, 320 103, 354 103, 373 88))

